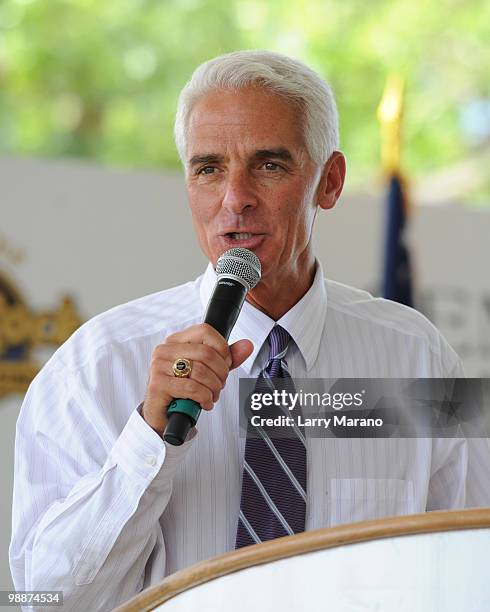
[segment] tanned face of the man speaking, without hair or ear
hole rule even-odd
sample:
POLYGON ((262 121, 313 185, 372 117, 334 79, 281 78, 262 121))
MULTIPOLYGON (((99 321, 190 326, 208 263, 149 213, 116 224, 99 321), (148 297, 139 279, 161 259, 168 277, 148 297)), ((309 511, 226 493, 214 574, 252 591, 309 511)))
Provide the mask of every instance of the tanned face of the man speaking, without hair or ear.
POLYGON ((191 113, 186 157, 194 226, 213 265, 232 247, 256 253, 263 280, 292 280, 311 263, 320 168, 298 109, 259 88, 210 92, 191 113))

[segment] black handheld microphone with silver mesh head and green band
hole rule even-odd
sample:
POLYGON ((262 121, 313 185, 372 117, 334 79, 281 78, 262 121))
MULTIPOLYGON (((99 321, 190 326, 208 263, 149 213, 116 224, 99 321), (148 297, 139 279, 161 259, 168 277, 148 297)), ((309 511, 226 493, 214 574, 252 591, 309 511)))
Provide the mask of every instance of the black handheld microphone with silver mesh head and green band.
MULTIPOLYGON (((259 258, 248 249, 230 249, 216 263, 218 280, 204 316, 204 323, 216 329, 225 340, 238 319, 247 293, 260 280, 259 258)), ((175 399, 167 408, 168 423, 163 439, 174 446, 184 443, 201 414, 201 406, 191 399, 175 399)))

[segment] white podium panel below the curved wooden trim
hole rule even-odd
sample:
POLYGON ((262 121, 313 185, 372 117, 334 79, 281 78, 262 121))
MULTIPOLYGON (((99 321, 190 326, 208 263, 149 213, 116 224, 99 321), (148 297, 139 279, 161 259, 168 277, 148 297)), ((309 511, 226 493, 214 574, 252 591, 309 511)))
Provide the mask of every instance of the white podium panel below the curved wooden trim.
POLYGON ((161 612, 488 612, 490 530, 399 536, 250 567, 161 612))

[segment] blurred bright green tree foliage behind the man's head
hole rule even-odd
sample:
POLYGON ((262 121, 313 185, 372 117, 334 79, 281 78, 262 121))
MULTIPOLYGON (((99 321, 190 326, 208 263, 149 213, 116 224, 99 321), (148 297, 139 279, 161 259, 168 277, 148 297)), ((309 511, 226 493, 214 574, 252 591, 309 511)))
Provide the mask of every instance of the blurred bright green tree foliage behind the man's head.
POLYGON ((356 186, 378 172, 376 107, 401 74, 404 163, 423 175, 488 147, 489 40, 487 0, 0 0, 0 153, 177 167, 192 70, 268 48, 332 84, 356 186))

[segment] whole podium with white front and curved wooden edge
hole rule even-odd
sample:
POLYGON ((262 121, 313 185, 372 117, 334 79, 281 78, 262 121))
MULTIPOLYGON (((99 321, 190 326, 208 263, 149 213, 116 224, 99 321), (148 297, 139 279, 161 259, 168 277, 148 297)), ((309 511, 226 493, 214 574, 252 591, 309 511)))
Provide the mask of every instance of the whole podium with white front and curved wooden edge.
POLYGON ((115 612, 488 612, 490 508, 318 529, 178 571, 115 612))

